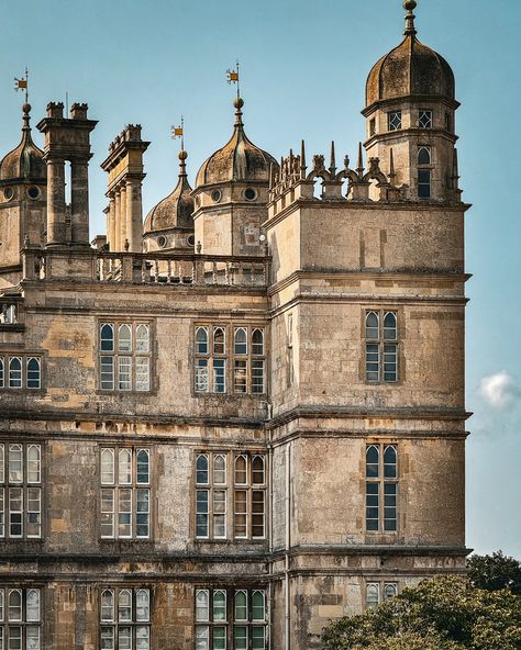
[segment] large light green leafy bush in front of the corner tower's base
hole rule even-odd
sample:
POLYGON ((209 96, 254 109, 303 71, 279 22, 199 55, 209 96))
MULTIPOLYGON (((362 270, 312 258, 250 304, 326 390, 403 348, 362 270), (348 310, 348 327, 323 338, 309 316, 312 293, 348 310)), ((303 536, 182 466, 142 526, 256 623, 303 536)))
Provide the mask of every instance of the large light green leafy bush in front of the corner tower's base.
POLYGON ((332 621, 322 641, 329 650, 521 650, 521 597, 435 578, 332 621))

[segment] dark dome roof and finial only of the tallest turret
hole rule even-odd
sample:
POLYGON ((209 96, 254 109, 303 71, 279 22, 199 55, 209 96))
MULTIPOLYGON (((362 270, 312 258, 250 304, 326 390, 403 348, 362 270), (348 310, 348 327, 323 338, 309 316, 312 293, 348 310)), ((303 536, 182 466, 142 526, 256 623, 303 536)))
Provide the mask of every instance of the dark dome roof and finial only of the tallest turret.
POLYGON ((454 72, 436 52, 420 43, 414 29, 417 3, 407 0, 404 38, 373 67, 366 83, 366 107, 403 97, 437 97, 455 101, 454 72))

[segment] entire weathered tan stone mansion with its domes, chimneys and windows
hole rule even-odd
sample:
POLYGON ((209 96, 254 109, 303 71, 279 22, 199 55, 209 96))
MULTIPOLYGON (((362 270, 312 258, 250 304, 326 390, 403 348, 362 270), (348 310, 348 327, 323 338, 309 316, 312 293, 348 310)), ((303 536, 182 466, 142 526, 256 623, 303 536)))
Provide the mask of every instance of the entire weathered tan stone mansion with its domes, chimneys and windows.
POLYGON ((302 143, 278 165, 237 99, 230 142, 193 190, 181 152, 144 235, 141 127, 110 146, 90 247, 96 122, 51 103, 41 150, 24 107, 0 164, 12 643, 319 648, 331 618, 464 571, 458 104, 404 5, 368 80, 367 162, 337 167, 333 145, 308 165, 302 143))

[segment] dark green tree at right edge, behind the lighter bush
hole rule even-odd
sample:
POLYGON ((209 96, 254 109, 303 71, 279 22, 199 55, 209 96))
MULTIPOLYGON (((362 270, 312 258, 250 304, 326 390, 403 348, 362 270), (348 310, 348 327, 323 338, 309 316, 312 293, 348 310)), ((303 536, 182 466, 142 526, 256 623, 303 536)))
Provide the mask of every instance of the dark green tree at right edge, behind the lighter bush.
POLYGON ((490 592, 509 589, 521 595, 521 564, 519 560, 496 551, 491 556, 470 556, 467 560, 468 580, 477 589, 490 592))

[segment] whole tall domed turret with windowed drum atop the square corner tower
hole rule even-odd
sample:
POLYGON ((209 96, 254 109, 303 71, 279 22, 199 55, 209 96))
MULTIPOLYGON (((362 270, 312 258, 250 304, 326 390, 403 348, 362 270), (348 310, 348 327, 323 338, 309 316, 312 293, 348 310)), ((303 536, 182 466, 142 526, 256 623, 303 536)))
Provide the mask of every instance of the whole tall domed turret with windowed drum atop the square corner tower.
POLYGON ((458 202, 454 74, 440 54, 417 38, 417 5, 404 0, 404 38, 367 78, 365 147, 369 158, 392 169, 402 197, 458 202))

